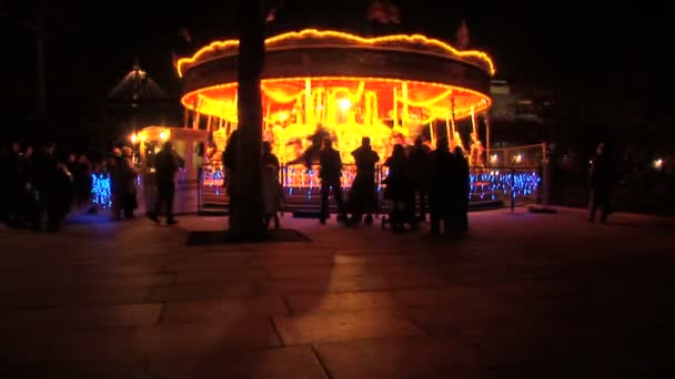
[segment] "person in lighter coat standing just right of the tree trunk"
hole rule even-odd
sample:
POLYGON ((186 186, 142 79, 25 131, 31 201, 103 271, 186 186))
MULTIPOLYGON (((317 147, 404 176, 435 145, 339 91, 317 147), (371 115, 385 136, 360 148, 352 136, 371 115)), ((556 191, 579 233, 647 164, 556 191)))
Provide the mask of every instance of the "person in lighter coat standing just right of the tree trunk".
POLYGON ((272 153, 272 145, 269 142, 263 143, 262 156, 262 197, 264 206, 265 227, 270 227, 270 221, 274 219, 274 228, 279 229, 279 212, 283 192, 281 183, 279 183, 279 158, 272 153))

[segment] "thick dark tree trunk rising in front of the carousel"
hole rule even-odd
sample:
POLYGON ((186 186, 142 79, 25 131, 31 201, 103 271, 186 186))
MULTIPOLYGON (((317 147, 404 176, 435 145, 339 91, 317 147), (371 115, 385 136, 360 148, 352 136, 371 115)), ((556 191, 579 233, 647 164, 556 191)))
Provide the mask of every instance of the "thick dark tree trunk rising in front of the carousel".
POLYGON ((264 61, 264 18, 262 0, 242 1, 239 39, 239 146, 235 167, 235 204, 230 232, 241 239, 264 233, 261 196, 262 100, 260 74, 264 61))

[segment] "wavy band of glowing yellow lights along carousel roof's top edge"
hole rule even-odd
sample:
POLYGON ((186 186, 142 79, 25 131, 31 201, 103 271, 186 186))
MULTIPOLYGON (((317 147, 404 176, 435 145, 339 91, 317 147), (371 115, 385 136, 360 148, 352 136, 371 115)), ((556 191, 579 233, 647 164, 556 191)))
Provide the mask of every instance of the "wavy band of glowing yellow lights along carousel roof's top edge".
MULTIPOLYGON (((340 40, 341 42, 347 42, 357 45, 366 45, 372 48, 381 48, 381 49, 391 49, 391 50, 402 50, 410 51, 415 50, 420 51, 420 48, 416 45, 422 44, 426 48, 432 48, 437 50, 437 52, 429 52, 436 54, 451 55, 456 59, 469 61, 470 63, 474 63, 481 65, 491 74, 494 75, 495 68, 492 59, 482 51, 470 50, 470 51, 460 51, 452 45, 436 40, 431 39, 422 34, 395 34, 395 35, 384 35, 384 37, 375 37, 375 38, 364 38, 360 35, 354 35, 350 33, 325 30, 320 31, 316 29, 305 29, 299 32, 288 32, 280 35, 275 35, 265 40, 265 47, 270 50, 273 50, 275 45, 288 43, 291 44, 293 41, 299 41, 305 38, 314 38, 322 40, 340 40)), ((330 44, 329 41, 322 43, 323 45, 330 44)), ((199 64, 202 61, 209 60, 212 54, 218 54, 221 52, 221 55, 231 55, 236 53, 236 49, 239 48, 239 40, 225 40, 225 41, 214 41, 209 45, 203 47, 197 53, 194 53, 190 58, 181 58, 178 61, 177 70, 178 74, 182 76, 185 71, 193 64, 199 64), (226 51, 230 49, 231 51, 226 51)))

